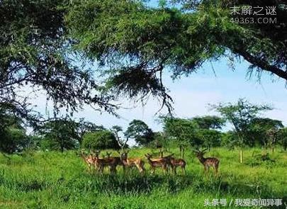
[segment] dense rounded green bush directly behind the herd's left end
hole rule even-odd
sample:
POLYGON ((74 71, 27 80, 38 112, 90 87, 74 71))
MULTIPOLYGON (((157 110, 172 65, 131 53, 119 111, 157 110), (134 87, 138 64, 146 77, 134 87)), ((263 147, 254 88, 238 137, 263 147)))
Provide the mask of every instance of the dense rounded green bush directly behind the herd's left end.
POLYGON ((115 135, 110 130, 86 132, 81 147, 86 149, 120 149, 115 135))

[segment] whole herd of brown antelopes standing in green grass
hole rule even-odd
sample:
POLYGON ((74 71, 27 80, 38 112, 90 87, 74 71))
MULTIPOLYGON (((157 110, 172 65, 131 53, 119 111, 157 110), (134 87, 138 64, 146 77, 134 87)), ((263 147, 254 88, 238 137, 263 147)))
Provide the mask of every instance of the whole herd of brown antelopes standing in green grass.
MULTIPOLYGON (((215 157, 203 157, 203 154, 206 152, 206 149, 195 151, 196 157, 198 157, 201 164, 204 166, 204 171, 207 172, 210 167, 213 167, 215 174, 218 173, 219 160, 215 157)), ((106 152, 106 157, 99 157, 100 151, 96 151, 94 154, 84 154, 81 152, 81 157, 86 162, 89 171, 92 169, 94 171, 99 171, 100 174, 103 174, 103 169, 107 167, 111 174, 115 174, 117 171, 117 166, 123 166, 123 171, 125 172, 130 167, 136 167, 140 174, 143 174, 145 171, 145 161, 140 158, 130 158, 128 157, 128 151, 118 152, 120 157, 111 157, 111 152, 106 152)), ((152 174, 156 168, 164 170, 164 173, 167 174, 169 168, 176 174, 176 168, 181 167, 182 174, 186 172, 186 162, 184 159, 176 159, 173 157, 174 154, 169 154, 165 157, 152 158, 152 154, 145 154, 148 164, 150 164, 150 169, 152 174)))

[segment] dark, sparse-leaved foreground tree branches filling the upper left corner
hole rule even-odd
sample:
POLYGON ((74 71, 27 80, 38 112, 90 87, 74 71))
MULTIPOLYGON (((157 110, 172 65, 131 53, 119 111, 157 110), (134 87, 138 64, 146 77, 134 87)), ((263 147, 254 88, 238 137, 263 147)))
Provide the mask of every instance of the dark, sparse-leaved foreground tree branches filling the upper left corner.
POLYGON ((0 3, 0 104, 13 107, 13 112, 22 118, 39 119, 28 102, 39 91, 52 101, 55 114, 61 108, 72 113, 84 104, 109 112, 115 108, 107 94, 100 94, 101 86, 96 84, 93 72, 74 64, 71 40, 65 36, 67 3, 0 3))

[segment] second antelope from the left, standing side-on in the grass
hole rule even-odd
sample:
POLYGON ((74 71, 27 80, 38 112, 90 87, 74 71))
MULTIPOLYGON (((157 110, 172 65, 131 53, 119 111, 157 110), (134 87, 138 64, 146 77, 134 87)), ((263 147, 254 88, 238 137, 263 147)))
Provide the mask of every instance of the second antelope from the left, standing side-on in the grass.
POLYGON ((105 166, 110 167, 111 174, 116 173, 116 166, 120 164, 120 158, 118 157, 108 157, 99 158, 100 151, 96 151, 96 156, 94 157, 94 165, 99 169, 100 173, 103 174, 103 168, 105 166))

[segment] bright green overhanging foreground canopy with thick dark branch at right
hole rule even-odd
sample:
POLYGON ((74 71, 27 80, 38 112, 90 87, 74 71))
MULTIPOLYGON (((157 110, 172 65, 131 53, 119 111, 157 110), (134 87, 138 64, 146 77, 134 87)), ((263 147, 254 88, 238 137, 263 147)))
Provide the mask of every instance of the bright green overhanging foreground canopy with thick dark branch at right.
POLYGON ((108 66, 106 86, 113 93, 140 100, 152 94, 169 110, 172 101, 162 82, 167 70, 179 78, 207 61, 243 57, 250 74, 268 72, 287 79, 287 11, 280 1, 173 1, 182 8, 164 6, 163 1, 157 8, 125 0, 71 4, 69 37, 86 57, 108 66), (276 6, 278 23, 232 23, 234 4, 276 6))

